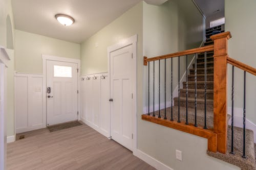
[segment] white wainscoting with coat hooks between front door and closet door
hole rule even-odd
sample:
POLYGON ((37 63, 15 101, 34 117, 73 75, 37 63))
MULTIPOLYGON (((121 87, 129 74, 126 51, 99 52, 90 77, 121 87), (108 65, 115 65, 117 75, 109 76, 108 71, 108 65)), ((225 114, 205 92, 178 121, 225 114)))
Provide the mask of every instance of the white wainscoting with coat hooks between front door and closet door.
POLYGON ((81 120, 110 137, 110 86, 106 72, 81 76, 81 120), (105 79, 103 79, 105 76, 105 79))

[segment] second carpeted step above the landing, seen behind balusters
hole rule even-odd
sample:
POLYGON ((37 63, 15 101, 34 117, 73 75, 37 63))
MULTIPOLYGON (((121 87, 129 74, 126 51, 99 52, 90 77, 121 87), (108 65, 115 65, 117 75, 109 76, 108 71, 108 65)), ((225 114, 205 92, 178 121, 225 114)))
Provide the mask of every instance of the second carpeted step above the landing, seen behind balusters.
MULTIPOLYGON (((195 89, 187 90, 188 98, 195 98, 195 89)), ((180 96, 186 97, 186 89, 180 89, 180 96)), ((204 99, 204 89, 197 89, 197 99, 204 99)), ((214 90, 206 90, 206 99, 214 99, 214 90)))

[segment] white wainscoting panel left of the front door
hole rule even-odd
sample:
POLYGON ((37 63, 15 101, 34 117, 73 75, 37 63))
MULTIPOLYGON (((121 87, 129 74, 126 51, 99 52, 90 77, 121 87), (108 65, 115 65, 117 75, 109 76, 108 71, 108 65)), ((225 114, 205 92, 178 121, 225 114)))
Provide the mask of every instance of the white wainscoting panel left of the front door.
POLYGON ((15 74, 16 133, 46 127, 42 112, 42 75, 15 74))

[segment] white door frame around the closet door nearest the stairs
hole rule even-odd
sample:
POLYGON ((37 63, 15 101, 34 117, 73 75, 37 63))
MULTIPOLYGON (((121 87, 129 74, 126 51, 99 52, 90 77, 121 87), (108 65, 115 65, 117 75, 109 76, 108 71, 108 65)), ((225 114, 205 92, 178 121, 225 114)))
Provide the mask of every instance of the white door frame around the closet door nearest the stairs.
MULTIPOLYGON (((132 132, 133 132, 133 143, 132 143, 132 152, 135 152, 137 149, 137 42, 138 42, 138 35, 134 35, 130 38, 123 39, 118 43, 111 45, 107 48, 108 52, 108 76, 109 76, 109 88, 110 88, 110 97, 111 97, 111 74, 110 74, 110 53, 119 50, 125 46, 132 45, 132 53, 133 53, 133 66, 132 66, 132 91, 133 91, 133 113, 132 113, 132 132)), ((111 132, 111 107, 110 107, 110 134, 111 132)))

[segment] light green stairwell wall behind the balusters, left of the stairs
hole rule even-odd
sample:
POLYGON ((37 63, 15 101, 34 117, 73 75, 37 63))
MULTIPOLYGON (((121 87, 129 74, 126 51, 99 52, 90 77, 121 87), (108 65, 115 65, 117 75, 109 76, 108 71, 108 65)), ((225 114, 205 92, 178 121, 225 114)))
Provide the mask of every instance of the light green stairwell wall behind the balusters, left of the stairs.
MULTIPOLYGON (((199 47, 204 40, 204 26, 205 19, 190 0, 167 1, 161 6, 143 3, 143 56, 151 58, 199 47), (184 13, 184 11, 187 12, 184 13)), ((188 57, 188 64, 192 58, 192 55, 188 57)), ((173 62, 174 90, 178 85, 178 58, 174 58, 173 62)), ((162 65, 160 72, 161 75, 163 75, 164 60, 162 60, 160 64, 162 65)), ((152 62, 151 65, 153 65, 152 62)), ((180 57, 180 78, 185 73, 185 66, 185 57, 180 57)), ((147 67, 144 67, 144 71, 146 70, 147 67)), ((151 72, 153 72, 153 66, 151 66, 151 72)), ((166 61, 166 72, 170 72, 170 59, 166 61)), ((155 73, 155 78, 158 82, 158 61, 155 62, 155 73)), ((153 77, 151 79, 153 79, 153 77)), ((161 89, 163 89, 164 77, 162 76, 160 79, 162 85, 161 89)), ((167 74, 167 87, 170 87, 170 81, 168 81, 170 79, 170 74, 167 74)), ((144 75, 144 82, 147 82, 147 71, 144 75)), ((153 91, 152 81, 150 87, 150 91, 153 91)), ((147 85, 144 88, 147 88, 147 85)), ((145 90, 143 92, 145 92, 145 90)), ((155 95, 158 95, 158 90, 155 90, 155 93, 155 95)), ((160 93, 161 101, 164 101, 164 90, 161 90, 160 93)), ((153 98, 153 93, 151 94, 151 98, 153 98)), ((170 96, 170 88, 167 88, 166 95, 170 96)), ((147 99, 147 94, 144 94, 144 96, 145 99, 147 99)), ((167 98, 167 102, 170 101, 169 99, 170 98, 167 98)), ((144 102, 147 101, 144 100, 144 102)), ((158 99, 156 99, 155 102, 158 103, 158 99)), ((151 103, 151 105, 152 104, 153 103, 151 103)))

